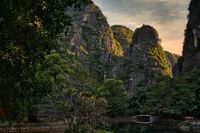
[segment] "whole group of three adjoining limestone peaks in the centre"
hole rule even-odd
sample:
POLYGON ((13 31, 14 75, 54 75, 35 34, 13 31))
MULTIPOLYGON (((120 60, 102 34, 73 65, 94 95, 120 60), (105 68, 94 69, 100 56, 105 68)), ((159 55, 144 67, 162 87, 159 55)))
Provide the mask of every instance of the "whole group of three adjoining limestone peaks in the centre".
POLYGON ((158 33, 151 26, 144 25, 135 33, 125 26, 111 29, 94 3, 81 10, 70 8, 68 13, 73 20, 69 48, 98 77, 121 79, 134 90, 141 82, 149 85, 159 76, 172 76, 158 33))

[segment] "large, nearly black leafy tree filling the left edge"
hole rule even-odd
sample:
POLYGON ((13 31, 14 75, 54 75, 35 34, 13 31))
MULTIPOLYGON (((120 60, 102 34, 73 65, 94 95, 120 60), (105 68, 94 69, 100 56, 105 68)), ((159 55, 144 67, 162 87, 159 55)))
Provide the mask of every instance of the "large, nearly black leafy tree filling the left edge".
POLYGON ((10 119, 17 118, 20 108, 24 108, 25 92, 40 88, 35 85, 38 82, 48 86, 36 73, 44 57, 57 48, 59 34, 70 25, 65 13, 69 5, 67 0, 0 3, 0 101, 10 119))

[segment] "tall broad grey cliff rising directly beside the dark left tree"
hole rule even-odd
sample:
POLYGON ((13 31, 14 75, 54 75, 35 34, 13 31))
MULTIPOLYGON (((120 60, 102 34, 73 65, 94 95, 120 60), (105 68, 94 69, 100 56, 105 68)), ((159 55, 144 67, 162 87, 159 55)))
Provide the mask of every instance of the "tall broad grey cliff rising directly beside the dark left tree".
POLYGON ((121 45, 114 39, 105 16, 94 3, 81 10, 70 8, 68 14, 73 20, 73 28, 66 41, 69 49, 81 55, 91 71, 101 73, 98 76, 102 77, 103 73, 107 73, 105 69, 109 71, 111 67, 111 57, 123 56, 121 45))

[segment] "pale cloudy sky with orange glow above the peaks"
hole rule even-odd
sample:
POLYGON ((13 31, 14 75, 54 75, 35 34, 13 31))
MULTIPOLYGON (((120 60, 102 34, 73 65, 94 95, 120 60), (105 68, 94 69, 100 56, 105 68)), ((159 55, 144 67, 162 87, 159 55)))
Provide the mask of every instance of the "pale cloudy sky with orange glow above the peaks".
POLYGON ((184 30, 190 0, 93 0, 110 25, 125 25, 132 30, 143 24, 159 33, 164 50, 182 54, 184 30))

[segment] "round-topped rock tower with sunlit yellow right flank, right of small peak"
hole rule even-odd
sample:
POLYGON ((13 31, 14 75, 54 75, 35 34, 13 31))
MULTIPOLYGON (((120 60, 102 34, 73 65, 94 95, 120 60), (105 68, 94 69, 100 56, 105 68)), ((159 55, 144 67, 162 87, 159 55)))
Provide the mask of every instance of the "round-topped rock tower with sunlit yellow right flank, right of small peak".
POLYGON ((172 76, 157 31, 147 25, 136 29, 129 53, 129 89, 150 85, 159 76, 172 76))

